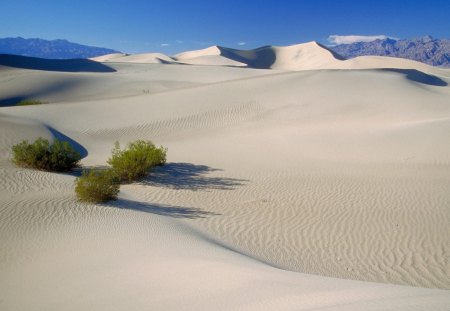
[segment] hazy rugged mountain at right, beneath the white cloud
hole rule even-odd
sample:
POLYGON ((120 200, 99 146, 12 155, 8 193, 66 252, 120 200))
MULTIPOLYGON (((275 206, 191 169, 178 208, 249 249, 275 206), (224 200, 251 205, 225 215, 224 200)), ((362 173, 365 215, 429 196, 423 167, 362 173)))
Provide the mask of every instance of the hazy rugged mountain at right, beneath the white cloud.
POLYGON ((415 39, 383 39, 330 47, 345 58, 362 55, 401 57, 433 66, 450 67, 450 40, 425 36, 415 39))

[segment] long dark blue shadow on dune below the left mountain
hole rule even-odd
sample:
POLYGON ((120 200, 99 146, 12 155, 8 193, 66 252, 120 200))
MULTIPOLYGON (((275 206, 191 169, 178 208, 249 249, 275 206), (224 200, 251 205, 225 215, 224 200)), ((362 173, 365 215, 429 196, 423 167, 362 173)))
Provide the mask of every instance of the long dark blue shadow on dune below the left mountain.
POLYGON ((102 63, 89 59, 44 59, 10 54, 0 54, 0 65, 45 71, 60 72, 115 72, 102 63))

